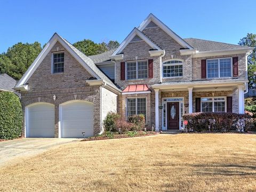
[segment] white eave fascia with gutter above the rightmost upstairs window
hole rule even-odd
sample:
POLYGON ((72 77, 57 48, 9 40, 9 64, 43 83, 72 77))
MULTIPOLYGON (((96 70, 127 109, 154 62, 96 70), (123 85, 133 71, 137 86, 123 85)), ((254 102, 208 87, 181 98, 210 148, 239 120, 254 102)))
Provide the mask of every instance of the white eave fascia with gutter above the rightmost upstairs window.
POLYGON ((199 58, 199 57, 211 57, 211 56, 218 56, 218 55, 228 55, 228 54, 250 54, 254 47, 244 47, 240 49, 229 49, 229 50, 218 50, 218 51, 197 51, 192 57, 199 58))

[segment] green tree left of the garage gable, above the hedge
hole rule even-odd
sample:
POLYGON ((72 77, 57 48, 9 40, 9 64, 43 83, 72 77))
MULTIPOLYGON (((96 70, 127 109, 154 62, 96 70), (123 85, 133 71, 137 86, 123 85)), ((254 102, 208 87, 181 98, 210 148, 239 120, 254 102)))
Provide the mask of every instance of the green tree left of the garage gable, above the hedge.
POLYGON ((42 51, 41 44, 17 43, 0 54, 0 72, 7 73, 14 79, 20 79, 37 55, 42 51))

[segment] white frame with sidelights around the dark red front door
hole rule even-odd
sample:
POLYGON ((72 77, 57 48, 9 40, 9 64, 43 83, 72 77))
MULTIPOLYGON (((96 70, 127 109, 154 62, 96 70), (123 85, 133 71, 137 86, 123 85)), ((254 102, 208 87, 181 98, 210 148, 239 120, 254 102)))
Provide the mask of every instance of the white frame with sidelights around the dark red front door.
MULTIPOLYGON (((167 98, 162 98, 162 106, 163 106, 163 109, 162 109, 162 114, 164 114, 164 103, 165 103, 165 107, 166 107, 166 111, 165 111, 165 126, 164 126, 164 116, 162 115, 162 130, 164 131, 167 131, 167 103, 168 102, 179 102, 179 130, 182 130, 181 129, 181 103, 183 103, 183 110, 182 110, 182 114, 184 115, 185 114, 185 107, 184 107, 184 101, 185 101, 185 98, 184 97, 167 97, 167 98), (164 99, 182 99, 182 101, 164 101, 164 99)), ((184 127, 184 123, 182 125, 182 127, 184 127)))

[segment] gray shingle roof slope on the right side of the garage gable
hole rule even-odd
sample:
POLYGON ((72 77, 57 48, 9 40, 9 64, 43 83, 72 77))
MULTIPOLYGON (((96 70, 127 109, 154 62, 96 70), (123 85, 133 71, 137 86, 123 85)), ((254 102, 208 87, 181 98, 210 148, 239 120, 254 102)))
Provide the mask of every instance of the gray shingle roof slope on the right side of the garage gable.
MULTIPOLYGON (((116 85, 113 82, 111 82, 111 80, 105 74, 101 72, 101 70, 94 64, 94 62, 89 57, 87 57, 84 53, 76 49, 76 47, 70 44, 65 38, 61 38, 102 80, 104 80, 108 85, 116 87, 116 85)), ((118 88, 116 87, 116 89, 118 88)))

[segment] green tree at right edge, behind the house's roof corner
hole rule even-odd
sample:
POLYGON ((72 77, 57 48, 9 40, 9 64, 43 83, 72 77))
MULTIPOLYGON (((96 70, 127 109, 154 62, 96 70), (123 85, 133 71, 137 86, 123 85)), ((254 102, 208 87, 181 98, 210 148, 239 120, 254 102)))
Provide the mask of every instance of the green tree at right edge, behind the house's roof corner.
POLYGON ((252 53, 248 56, 248 79, 249 87, 256 88, 256 34, 247 34, 242 38, 239 45, 254 47, 252 53))

